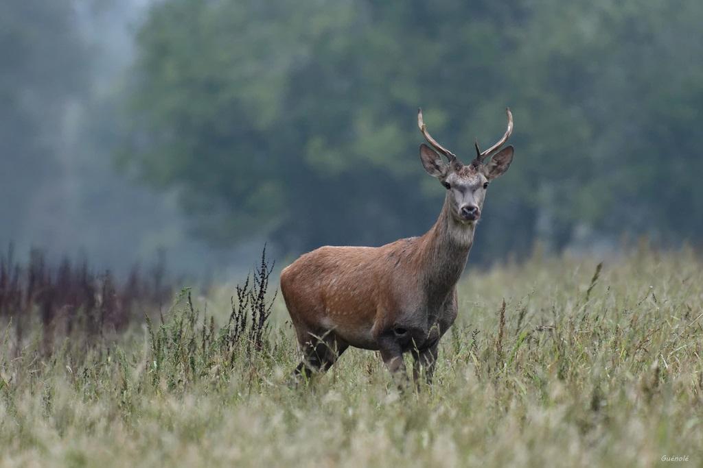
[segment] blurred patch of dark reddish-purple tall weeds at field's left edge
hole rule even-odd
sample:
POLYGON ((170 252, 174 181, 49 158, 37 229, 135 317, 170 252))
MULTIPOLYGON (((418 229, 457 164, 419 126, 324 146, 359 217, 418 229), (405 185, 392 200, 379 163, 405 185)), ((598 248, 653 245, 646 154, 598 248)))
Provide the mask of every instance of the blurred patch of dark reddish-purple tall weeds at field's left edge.
POLYGON ((93 345, 141 321, 145 312, 158 312, 172 289, 162 260, 147 274, 134 267, 117 281, 109 271, 96 273, 86 260, 64 258, 53 266, 41 250, 32 250, 27 262, 15 258, 12 246, 0 253, 0 323, 11 323, 15 354, 32 337, 47 355, 65 337, 93 345))

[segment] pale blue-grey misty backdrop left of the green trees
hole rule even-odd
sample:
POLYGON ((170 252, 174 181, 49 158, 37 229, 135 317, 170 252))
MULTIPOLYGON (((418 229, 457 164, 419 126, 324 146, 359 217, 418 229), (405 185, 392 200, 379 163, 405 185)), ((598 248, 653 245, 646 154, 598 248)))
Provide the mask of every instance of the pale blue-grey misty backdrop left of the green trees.
POLYGON ((184 234, 172 193, 115 171, 148 1, 0 2, 0 251, 85 256, 117 276, 162 248, 178 251, 168 256, 179 271, 209 271, 221 257, 184 234))

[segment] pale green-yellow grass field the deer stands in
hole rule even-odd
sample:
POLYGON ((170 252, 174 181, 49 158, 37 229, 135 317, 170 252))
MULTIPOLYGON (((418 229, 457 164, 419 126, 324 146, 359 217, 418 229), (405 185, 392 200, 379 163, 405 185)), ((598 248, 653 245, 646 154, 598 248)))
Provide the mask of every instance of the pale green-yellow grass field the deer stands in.
POLYGON ((420 393, 356 349, 288 387, 299 354, 280 296, 260 349, 225 327, 224 287, 205 320, 181 295, 164 323, 49 354, 39 329, 18 352, 9 324, 0 466, 703 465, 703 261, 640 248, 597 264, 467 272, 420 393))

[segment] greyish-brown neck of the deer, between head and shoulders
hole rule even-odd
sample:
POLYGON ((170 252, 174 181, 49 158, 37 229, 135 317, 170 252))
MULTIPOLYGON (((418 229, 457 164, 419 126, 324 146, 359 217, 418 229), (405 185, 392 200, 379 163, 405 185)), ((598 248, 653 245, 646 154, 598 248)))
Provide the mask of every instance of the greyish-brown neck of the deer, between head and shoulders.
POLYGON ((464 271, 474 241, 476 223, 463 224, 451 215, 449 194, 437 222, 424 236, 422 262, 430 296, 444 302, 464 271))

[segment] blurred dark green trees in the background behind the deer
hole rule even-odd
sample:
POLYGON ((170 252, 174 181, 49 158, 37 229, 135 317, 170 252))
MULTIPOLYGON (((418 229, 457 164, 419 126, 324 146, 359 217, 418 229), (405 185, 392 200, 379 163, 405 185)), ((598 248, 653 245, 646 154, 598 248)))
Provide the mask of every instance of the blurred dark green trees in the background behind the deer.
POLYGON ((425 232, 444 196, 417 107, 469 161, 509 105, 515 162, 475 260, 535 239, 697 241, 702 24, 695 0, 158 1, 121 160, 177 189, 214 245, 379 245, 425 232))

